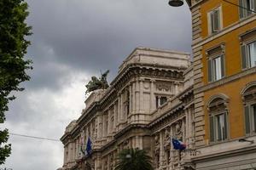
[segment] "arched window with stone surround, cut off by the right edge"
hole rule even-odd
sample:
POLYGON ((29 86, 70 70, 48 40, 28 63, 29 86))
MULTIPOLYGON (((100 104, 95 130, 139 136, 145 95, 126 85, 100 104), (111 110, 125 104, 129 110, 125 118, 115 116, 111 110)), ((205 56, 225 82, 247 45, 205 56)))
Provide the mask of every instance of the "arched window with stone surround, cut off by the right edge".
POLYGON ((256 82, 250 82, 241 91, 244 104, 245 133, 256 133, 256 82))

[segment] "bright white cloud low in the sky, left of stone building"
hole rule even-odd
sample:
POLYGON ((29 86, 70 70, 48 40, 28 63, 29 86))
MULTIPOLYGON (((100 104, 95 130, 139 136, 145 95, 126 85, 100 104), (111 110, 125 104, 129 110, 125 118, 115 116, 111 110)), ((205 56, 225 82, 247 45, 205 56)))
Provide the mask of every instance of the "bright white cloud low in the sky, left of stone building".
MULTIPOLYGON (((10 133, 21 133, 60 139, 67 124, 80 116, 84 109, 84 83, 88 76, 82 72, 70 72, 65 77, 69 81, 64 83, 61 91, 53 93, 44 88, 42 90, 20 94, 10 105, 8 121, 5 127, 10 133), (24 103, 24 107, 22 107, 24 103), (16 104, 21 104, 20 111, 11 110, 16 104), (12 119, 15 115, 26 118, 12 119)), ((12 155, 3 167, 14 170, 47 170, 62 166, 63 145, 61 142, 28 139, 10 135, 12 155)))

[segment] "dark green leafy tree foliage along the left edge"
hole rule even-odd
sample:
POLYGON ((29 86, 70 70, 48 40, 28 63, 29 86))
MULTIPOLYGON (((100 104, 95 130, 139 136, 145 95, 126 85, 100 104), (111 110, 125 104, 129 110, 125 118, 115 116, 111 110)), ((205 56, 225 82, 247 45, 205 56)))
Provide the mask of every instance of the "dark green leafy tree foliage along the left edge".
MULTIPOLYGON (((0 1, 0 123, 5 121, 9 100, 15 99, 10 93, 22 91, 20 82, 30 79, 26 70, 32 69, 32 61, 24 59, 30 44, 26 36, 32 34, 25 22, 27 15, 24 0, 0 1)), ((8 139, 8 130, 0 129, 0 165, 10 155, 10 144, 5 144, 8 139)))

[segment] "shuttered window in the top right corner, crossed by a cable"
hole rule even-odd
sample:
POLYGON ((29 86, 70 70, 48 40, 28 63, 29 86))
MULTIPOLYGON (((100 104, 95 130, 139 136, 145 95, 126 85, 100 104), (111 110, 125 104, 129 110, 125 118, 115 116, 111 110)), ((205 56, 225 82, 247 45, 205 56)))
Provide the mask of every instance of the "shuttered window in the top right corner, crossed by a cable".
POLYGON ((240 19, 247 18, 251 14, 255 14, 253 11, 256 10, 256 0, 239 0, 239 15, 240 19))

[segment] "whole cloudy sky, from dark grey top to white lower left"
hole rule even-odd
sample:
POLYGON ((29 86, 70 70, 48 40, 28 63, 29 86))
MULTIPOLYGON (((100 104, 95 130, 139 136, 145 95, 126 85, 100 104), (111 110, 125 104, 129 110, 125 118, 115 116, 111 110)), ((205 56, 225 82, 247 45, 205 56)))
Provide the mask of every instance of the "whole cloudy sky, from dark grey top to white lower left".
MULTIPOLYGON (((190 52, 189 8, 166 0, 27 0, 33 27, 27 59, 33 60, 26 91, 9 105, 10 133, 60 139, 84 108, 84 84, 110 70, 137 46, 190 52)), ((61 167, 61 142, 10 136, 12 155, 2 167, 61 167)))

